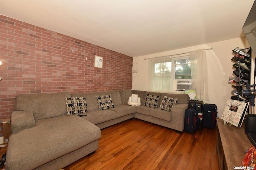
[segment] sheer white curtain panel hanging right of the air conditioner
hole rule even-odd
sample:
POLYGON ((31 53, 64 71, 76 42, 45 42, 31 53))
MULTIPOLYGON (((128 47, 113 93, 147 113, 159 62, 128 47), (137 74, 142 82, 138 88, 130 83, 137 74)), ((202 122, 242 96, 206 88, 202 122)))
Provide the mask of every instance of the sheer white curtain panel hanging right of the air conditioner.
POLYGON ((196 90, 197 100, 209 100, 206 50, 190 51, 189 57, 191 62, 192 89, 196 90))

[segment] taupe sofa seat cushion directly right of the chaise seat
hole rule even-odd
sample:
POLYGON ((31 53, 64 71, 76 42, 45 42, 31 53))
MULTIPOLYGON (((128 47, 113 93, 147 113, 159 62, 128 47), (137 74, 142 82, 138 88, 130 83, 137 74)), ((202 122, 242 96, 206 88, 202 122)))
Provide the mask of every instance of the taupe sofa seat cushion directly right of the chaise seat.
POLYGON ((94 125, 97 125, 105 121, 116 119, 116 112, 110 109, 107 109, 107 110, 96 109, 96 110, 88 111, 87 116, 84 116, 82 118, 90 121, 94 125))

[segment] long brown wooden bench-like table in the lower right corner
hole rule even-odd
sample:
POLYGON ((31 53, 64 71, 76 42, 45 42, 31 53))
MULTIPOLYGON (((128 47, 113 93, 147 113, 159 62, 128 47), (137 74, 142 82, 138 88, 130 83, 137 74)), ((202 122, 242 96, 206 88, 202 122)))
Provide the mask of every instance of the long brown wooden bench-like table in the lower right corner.
POLYGON ((242 127, 224 124, 222 119, 217 119, 218 137, 217 152, 220 170, 234 170, 234 166, 242 166, 245 151, 252 146, 242 127))

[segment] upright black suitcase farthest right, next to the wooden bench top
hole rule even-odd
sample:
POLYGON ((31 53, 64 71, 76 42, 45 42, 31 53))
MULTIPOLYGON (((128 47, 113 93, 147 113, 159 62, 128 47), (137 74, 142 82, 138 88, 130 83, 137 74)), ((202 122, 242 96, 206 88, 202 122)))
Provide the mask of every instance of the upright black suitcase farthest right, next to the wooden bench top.
POLYGON ((216 126, 217 106, 215 104, 204 104, 204 127, 214 128, 216 126))

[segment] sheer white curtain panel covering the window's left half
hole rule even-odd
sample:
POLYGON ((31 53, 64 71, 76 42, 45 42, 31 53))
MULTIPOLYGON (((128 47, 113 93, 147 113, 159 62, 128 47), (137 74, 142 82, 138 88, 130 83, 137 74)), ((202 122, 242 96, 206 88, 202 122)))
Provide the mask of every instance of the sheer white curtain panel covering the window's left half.
POLYGON ((169 92, 172 56, 150 58, 148 64, 149 91, 169 92))

